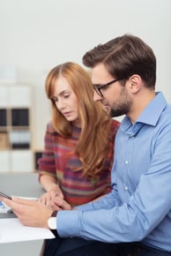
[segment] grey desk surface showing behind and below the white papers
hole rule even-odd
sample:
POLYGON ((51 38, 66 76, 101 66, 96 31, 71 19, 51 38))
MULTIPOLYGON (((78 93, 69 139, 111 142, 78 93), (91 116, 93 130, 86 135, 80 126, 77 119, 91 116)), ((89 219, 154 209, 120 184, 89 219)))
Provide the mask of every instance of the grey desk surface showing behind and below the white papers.
MULTIPOLYGON (((36 173, 0 174, 0 191, 10 195, 39 197, 43 193, 36 173)), ((1 256, 38 256, 42 240, 0 245, 1 256)))

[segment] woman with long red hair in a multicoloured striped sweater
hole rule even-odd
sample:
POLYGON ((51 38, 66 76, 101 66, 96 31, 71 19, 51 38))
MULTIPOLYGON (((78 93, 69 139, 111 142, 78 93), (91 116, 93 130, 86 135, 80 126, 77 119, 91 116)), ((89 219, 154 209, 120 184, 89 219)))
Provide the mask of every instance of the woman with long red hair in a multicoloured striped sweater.
POLYGON ((56 207, 56 197, 71 207, 95 200, 110 191, 115 132, 119 122, 93 102, 93 86, 75 63, 57 65, 46 79, 52 119, 45 134, 39 180, 41 202, 56 207))

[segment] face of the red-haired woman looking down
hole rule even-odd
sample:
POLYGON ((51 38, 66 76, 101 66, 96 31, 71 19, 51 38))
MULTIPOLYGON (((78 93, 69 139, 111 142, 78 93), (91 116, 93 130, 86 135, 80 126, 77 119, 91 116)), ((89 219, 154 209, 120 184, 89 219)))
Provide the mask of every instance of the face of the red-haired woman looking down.
POLYGON ((67 79, 63 76, 59 76, 56 80, 52 99, 56 103, 56 108, 63 114, 63 117, 74 125, 80 127, 78 118, 78 98, 73 92, 67 79))

